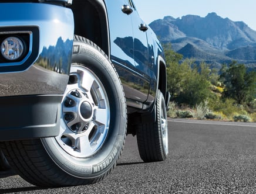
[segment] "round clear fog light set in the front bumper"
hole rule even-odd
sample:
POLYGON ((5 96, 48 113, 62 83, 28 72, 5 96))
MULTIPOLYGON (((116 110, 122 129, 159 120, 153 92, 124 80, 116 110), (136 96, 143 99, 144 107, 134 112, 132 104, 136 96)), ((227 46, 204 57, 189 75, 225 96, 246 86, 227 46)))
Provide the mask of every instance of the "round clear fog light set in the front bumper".
POLYGON ((24 46, 18 37, 8 37, 1 43, 1 54, 7 60, 18 60, 24 51, 24 46))

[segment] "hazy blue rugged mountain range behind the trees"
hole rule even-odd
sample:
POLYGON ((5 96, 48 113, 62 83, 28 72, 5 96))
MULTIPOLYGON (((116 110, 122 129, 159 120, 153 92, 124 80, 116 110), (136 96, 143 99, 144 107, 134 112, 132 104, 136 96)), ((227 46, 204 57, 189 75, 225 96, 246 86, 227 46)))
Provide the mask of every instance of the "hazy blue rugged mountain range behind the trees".
POLYGON ((208 13, 204 18, 166 16, 149 26, 162 43, 171 43, 184 58, 206 61, 215 67, 235 60, 256 70, 256 31, 244 22, 208 13))

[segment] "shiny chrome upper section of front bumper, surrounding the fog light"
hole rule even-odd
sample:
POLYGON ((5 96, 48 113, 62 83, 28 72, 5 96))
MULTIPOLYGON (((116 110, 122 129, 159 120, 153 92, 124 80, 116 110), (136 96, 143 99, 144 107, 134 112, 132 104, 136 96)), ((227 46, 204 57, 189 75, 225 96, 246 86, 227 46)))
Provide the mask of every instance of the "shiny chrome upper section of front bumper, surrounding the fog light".
POLYGON ((6 32, 28 31, 30 36, 28 56, 22 61, 0 60, 0 97, 63 93, 72 56, 72 11, 37 3, 0 6, 0 38, 8 36, 6 32))

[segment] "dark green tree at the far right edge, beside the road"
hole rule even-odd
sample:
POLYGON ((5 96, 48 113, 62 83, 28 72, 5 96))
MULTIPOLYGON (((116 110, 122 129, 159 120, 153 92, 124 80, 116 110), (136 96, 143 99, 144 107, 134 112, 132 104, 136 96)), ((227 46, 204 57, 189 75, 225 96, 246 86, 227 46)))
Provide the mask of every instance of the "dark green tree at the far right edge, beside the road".
POLYGON ((225 84, 224 98, 233 98, 238 104, 250 103, 256 96, 256 72, 248 72, 244 64, 233 61, 229 67, 224 65, 221 79, 225 84))

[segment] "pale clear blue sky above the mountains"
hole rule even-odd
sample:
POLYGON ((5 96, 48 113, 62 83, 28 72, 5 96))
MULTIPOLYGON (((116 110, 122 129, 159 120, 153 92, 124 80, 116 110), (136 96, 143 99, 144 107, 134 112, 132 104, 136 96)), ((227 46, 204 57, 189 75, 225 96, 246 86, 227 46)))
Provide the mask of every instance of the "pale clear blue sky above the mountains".
POLYGON ((221 18, 242 21, 256 30, 256 0, 133 0, 140 17, 147 24, 164 16, 184 15, 205 17, 215 12, 221 18))

